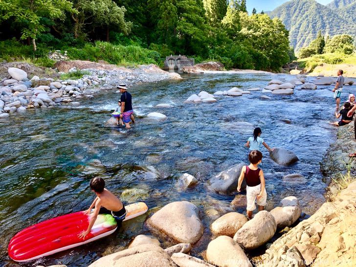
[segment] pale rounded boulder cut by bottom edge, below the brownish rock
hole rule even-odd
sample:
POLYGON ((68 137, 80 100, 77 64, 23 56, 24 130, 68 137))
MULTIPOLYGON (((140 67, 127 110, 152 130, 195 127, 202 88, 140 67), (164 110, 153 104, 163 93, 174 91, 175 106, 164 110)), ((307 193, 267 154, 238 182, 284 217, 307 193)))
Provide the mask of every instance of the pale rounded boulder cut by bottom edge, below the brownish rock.
POLYGON ((206 260, 219 267, 252 267, 244 250, 228 236, 220 236, 209 243, 206 260))

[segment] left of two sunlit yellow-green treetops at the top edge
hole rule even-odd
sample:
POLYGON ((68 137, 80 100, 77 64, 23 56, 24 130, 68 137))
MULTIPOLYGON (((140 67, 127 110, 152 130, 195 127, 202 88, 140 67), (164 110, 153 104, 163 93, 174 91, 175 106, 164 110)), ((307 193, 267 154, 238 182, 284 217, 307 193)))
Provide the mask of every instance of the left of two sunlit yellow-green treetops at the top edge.
POLYGON ((219 25, 226 14, 226 0, 203 0, 203 6, 208 22, 213 26, 219 25))

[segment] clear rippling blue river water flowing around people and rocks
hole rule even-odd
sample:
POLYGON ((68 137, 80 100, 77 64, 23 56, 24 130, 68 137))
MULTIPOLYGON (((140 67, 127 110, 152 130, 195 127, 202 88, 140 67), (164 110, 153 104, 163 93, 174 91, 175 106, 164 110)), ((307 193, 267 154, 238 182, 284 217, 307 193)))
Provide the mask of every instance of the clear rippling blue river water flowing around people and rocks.
MULTIPOLYGON (((288 77, 279 75, 278 79, 288 77)), ((327 88, 295 90, 292 96, 270 95, 261 100, 259 91, 242 97, 222 97, 212 104, 183 104, 193 93, 234 86, 264 87, 276 76, 265 74, 205 74, 185 76, 183 81, 138 85, 134 97, 137 124, 130 131, 105 127, 119 95, 103 92, 83 100, 75 108, 37 109, 0 122, 0 266, 19 266, 8 258, 7 245, 18 231, 33 223, 87 208, 94 195, 89 180, 105 178, 107 188, 126 203, 145 201, 147 216, 175 200, 189 200, 200 207, 205 225, 203 238, 195 245, 199 255, 211 239, 209 225, 232 209, 234 196, 221 196, 206 189, 206 180, 230 165, 246 162, 244 147, 253 127, 271 147, 284 147, 300 159, 289 167, 274 163, 264 151, 262 168, 267 178, 267 209, 294 195, 303 211, 312 214, 323 202, 325 184, 319 162, 335 130, 334 99, 327 88), (174 108, 155 109, 159 103, 174 108), (149 121, 144 115, 162 112, 165 122, 149 121), (282 119, 291 120, 287 124, 282 119), (334 121, 334 120, 333 120, 334 121), (197 187, 181 190, 179 174, 188 172, 200 180, 197 187), (302 181, 285 181, 290 173, 302 181)), ((346 88, 347 98, 352 87, 346 88)), ((103 254, 123 249, 138 234, 148 233, 146 216, 124 223, 120 231, 100 241, 67 250, 21 266, 66 264, 87 266, 103 254)), ((168 245, 170 241, 161 241, 168 245)))

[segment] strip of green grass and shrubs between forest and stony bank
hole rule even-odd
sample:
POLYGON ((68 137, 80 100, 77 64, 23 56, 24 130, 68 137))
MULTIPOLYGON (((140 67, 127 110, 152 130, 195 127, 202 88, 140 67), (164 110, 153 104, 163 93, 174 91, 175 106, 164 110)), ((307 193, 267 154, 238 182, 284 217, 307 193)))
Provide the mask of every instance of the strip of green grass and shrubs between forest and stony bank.
POLYGON ((94 44, 86 43, 75 47, 48 47, 39 45, 37 51, 31 45, 23 45, 15 40, 0 42, 0 61, 23 61, 38 67, 53 67, 55 61, 47 57, 53 50, 67 51, 71 60, 106 61, 119 66, 136 66, 143 64, 156 64, 163 66, 163 58, 154 50, 142 48, 138 45, 113 45, 97 41, 94 44))

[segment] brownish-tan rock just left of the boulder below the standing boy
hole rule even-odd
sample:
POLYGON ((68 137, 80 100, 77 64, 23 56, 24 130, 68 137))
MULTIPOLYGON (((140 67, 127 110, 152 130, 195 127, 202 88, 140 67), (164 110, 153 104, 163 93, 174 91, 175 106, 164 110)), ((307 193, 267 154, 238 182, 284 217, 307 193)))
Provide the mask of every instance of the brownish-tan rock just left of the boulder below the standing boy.
POLYGON ((229 212, 211 224, 211 231, 216 236, 234 237, 236 232, 247 223, 245 215, 238 212, 229 212))

